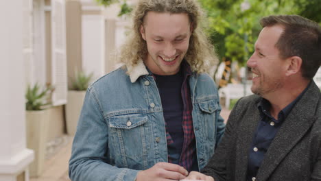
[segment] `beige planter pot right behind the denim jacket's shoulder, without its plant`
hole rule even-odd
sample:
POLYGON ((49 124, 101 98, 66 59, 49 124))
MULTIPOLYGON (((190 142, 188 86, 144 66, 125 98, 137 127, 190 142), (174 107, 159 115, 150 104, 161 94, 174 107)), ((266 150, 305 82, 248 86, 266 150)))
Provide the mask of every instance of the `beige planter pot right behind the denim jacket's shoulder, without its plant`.
POLYGON ((86 91, 69 90, 68 99, 66 104, 66 125, 67 133, 74 135, 77 130, 78 119, 80 111, 82 110, 82 104, 84 103, 84 96, 86 91))

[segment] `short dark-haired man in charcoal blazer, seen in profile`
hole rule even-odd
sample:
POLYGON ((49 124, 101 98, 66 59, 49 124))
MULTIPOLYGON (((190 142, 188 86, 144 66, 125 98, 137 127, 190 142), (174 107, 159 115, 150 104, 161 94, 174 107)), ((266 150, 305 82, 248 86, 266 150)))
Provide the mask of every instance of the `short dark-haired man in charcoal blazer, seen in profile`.
POLYGON ((202 173, 187 179, 321 180, 321 28, 296 15, 268 16, 248 60, 252 92, 228 118, 202 173), (209 177, 211 176, 211 177, 209 177))

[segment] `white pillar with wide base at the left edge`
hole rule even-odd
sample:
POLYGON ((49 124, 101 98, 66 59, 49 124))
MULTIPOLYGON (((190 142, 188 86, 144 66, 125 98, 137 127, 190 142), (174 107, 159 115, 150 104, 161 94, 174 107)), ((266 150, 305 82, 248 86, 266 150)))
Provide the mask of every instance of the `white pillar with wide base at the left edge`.
POLYGON ((34 159, 25 136, 23 1, 0 1, 0 180, 15 180, 34 159))

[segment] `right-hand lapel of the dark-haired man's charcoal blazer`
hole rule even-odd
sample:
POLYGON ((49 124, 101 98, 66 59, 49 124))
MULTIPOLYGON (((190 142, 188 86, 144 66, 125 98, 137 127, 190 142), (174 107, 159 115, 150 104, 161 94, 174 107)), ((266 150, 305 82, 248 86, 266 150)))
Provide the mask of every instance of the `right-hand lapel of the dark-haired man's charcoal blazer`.
MULTIPOLYGON (((316 106, 320 90, 314 82, 311 83, 305 95, 296 103, 292 111, 282 123, 280 130, 266 152, 257 180, 268 180, 274 169, 285 158, 288 152, 300 141, 302 136, 316 121, 316 106)), ((289 166, 291 167, 291 166, 289 166)))

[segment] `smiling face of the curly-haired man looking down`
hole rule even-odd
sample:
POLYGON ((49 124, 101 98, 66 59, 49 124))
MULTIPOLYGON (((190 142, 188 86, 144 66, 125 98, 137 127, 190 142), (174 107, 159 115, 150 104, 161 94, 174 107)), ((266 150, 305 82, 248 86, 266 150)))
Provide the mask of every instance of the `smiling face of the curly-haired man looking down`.
POLYGON ((180 70, 191 36, 191 23, 185 13, 147 12, 141 26, 147 43, 145 65, 157 75, 174 75, 180 70))

